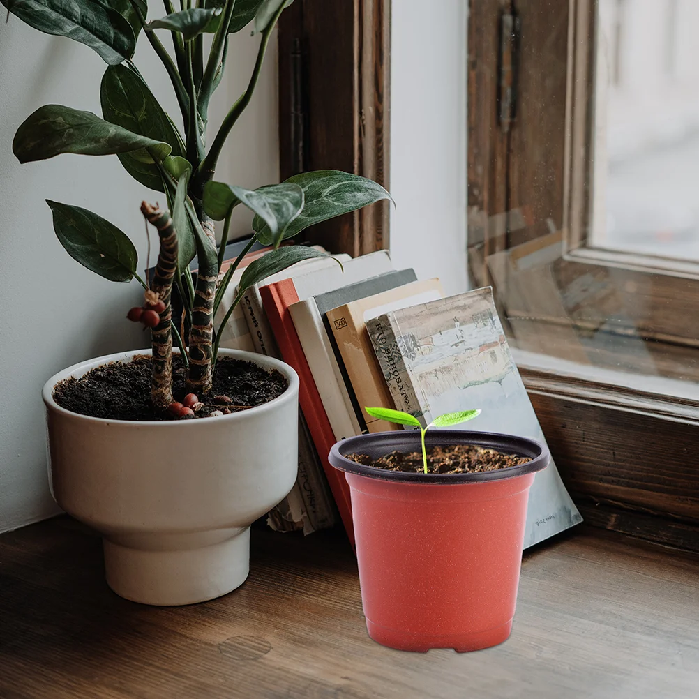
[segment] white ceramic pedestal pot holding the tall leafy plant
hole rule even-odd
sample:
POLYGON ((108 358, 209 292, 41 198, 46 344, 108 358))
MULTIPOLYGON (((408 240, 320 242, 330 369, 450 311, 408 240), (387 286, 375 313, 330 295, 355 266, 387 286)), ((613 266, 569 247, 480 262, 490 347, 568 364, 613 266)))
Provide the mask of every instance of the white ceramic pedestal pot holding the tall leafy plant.
POLYGON ((206 419, 164 422, 78 415, 55 385, 145 350, 99 357, 44 386, 49 470, 56 502, 103 535, 107 582, 150 605, 186 605, 243 584, 250 524, 291 490, 298 469, 298 376, 268 356, 221 356, 274 368, 289 387, 269 403, 206 419))

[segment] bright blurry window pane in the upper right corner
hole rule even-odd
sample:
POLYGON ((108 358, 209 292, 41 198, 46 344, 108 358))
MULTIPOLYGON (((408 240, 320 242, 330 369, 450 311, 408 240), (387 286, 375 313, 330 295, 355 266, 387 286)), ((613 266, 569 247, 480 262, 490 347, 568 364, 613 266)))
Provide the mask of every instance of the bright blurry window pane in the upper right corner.
POLYGON ((699 261, 699 2, 598 12, 589 245, 699 261))

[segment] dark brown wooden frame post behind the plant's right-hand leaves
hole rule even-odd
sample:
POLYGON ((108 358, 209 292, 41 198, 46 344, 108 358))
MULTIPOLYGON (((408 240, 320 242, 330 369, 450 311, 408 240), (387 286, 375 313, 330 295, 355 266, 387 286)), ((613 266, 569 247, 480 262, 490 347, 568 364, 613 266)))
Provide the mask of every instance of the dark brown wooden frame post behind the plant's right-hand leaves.
MULTIPOLYGON (((389 186, 390 0, 297 0, 280 19, 280 169, 336 169, 389 186)), ((354 256, 388 247, 386 202, 308 230, 354 256)))

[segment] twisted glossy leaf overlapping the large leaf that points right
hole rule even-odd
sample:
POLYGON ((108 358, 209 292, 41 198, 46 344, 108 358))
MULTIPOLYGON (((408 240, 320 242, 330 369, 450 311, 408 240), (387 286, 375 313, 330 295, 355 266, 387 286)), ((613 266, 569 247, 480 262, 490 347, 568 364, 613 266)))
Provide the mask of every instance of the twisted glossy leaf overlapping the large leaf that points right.
POLYGON ((289 183, 245 189, 211 180, 204 185, 202 203, 215 221, 228 217, 233 207, 242 203, 264 220, 273 236, 278 236, 303 210, 303 189, 289 183))

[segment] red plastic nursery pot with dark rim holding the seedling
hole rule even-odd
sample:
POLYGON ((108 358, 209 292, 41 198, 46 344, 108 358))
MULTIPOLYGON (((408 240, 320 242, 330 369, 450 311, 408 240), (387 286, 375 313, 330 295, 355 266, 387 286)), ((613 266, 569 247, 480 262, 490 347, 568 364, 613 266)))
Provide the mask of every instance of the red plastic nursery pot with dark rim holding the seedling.
POLYGON ((330 463, 345 471, 366 627, 373 640, 407 651, 475 651, 510 635, 517 600, 529 488, 549 452, 510 435, 433 430, 427 447, 473 444, 528 456, 520 466, 424 474, 361 466, 421 449, 419 431, 338 442, 330 463))

